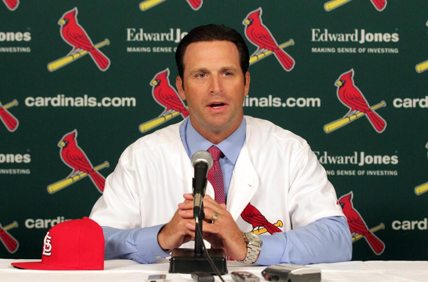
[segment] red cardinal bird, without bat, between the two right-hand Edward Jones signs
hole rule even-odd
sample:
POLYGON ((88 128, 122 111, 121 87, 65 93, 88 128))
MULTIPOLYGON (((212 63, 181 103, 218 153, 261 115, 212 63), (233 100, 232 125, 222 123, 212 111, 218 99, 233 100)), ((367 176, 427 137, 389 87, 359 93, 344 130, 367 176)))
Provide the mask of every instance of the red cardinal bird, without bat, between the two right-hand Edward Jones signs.
POLYGON ((349 108, 349 112, 344 117, 363 112, 375 128, 375 131, 382 133, 386 129, 385 120, 370 109, 369 103, 354 84, 354 69, 342 73, 335 84, 338 86, 337 94, 339 100, 349 108))

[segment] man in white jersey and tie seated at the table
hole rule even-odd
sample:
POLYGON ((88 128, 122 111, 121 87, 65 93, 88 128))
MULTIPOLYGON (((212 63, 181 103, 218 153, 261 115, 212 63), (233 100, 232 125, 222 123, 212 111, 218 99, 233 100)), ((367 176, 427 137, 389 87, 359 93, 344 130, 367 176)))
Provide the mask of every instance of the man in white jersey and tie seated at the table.
POLYGON ((242 36, 224 26, 197 27, 178 45, 176 62, 190 116, 137 140, 107 177, 90 216, 103 226, 106 259, 150 263, 192 244, 190 157, 203 149, 216 167, 202 227, 214 248, 261 265, 350 260, 346 218, 307 143, 243 116, 250 73, 242 36))

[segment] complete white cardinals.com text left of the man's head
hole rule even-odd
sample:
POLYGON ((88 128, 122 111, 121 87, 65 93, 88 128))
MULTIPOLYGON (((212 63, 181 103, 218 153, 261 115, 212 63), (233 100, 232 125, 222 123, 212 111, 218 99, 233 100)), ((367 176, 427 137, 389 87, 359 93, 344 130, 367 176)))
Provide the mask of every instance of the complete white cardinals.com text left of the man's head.
POLYGON ((135 97, 66 97, 58 94, 54 97, 27 97, 27 107, 135 107, 135 97))

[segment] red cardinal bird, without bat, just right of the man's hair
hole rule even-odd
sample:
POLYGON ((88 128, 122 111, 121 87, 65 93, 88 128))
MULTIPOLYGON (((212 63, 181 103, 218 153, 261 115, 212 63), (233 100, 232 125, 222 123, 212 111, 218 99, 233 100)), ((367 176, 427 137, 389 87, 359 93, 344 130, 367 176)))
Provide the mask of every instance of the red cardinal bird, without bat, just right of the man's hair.
POLYGON ((245 17, 243 24, 245 27, 245 35, 247 39, 257 47, 257 50, 250 56, 259 55, 267 50, 272 51, 275 57, 278 59, 281 66, 286 71, 290 71, 294 67, 294 59, 288 55, 287 52, 278 47, 278 43, 273 38, 272 33, 262 23, 262 8, 258 8, 255 11, 245 17))

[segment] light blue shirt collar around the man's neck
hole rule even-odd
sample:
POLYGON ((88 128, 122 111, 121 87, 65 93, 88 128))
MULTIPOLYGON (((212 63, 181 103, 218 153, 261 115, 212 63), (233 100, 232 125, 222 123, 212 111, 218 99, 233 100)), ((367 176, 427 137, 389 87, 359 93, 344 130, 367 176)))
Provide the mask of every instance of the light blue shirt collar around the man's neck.
POLYGON ((246 130, 247 122, 243 117, 239 127, 229 137, 215 145, 199 134, 189 119, 186 125, 186 141, 190 150, 190 157, 198 150, 208 150, 211 146, 216 146, 235 165, 239 152, 244 145, 246 130))

